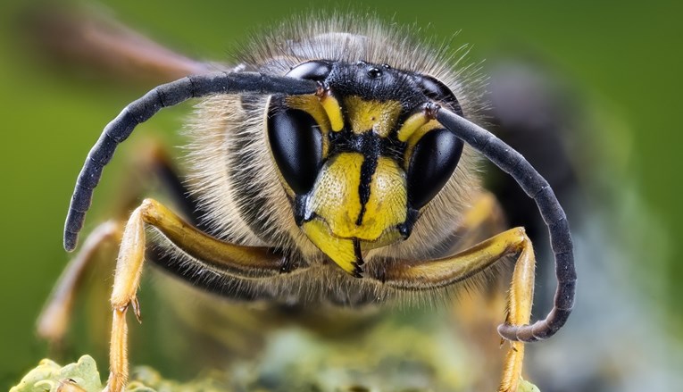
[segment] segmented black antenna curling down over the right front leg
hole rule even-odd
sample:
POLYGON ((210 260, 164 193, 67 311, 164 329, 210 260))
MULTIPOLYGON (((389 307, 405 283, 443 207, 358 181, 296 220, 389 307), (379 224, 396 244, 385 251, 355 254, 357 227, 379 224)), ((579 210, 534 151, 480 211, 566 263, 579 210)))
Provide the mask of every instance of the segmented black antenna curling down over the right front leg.
POLYGON ((491 162, 496 163, 501 170, 510 174, 524 189, 524 192, 536 202, 538 211, 550 231, 550 243, 555 257, 557 290, 554 306, 544 320, 523 326, 501 324, 498 326, 498 333, 508 340, 522 342, 535 342, 550 338, 562 328, 574 307, 576 269, 567 215, 562 210, 548 181, 511 146, 506 145, 503 140, 496 138, 479 125, 437 104, 429 104, 428 108, 432 113, 436 113, 435 117, 438 122, 484 154, 491 162))

